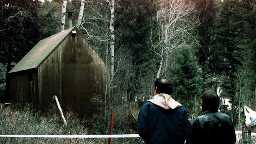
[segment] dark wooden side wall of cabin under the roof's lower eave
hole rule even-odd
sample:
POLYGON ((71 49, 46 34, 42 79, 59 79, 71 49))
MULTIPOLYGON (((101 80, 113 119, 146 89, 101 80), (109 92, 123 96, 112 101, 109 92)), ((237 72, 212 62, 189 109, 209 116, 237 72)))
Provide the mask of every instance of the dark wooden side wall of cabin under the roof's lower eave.
POLYGON ((32 103, 35 108, 38 105, 38 78, 37 70, 25 70, 10 74, 10 94, 12 102, 22 104, 32 103))

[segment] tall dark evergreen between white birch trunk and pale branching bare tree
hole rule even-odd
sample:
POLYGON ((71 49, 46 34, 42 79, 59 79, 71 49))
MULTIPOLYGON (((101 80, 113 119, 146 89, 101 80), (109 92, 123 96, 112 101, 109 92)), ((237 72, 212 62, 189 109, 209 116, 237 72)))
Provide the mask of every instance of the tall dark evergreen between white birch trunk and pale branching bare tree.
MULTIPOLYGON (((115 30, 117 52, 124 52, 130 55, 128 71, 125 73, 127 83, 126 92, 130 101, 135 100, 135 94, 139 88, 152 85, 142 83, 147 75, 154 73, 154 52, 150 46, 150 31, 152 17, 158 10, 158 2, 152 0, 120 0, 116 7, 115 30), (138 80, 141 83, 138 83, 138 80)), ((148 78, 148 77, 147 77, 148 78)))

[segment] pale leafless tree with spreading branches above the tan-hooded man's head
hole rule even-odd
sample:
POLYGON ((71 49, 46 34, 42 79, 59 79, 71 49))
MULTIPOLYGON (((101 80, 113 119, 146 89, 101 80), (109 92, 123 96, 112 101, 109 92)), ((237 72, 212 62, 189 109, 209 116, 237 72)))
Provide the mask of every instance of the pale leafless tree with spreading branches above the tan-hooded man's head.
POLYGON ((175 49, 191 46, 195 38, 190 34, 199 25, 198 18, 192 15, 194 6, 186 0, 162 0, 156 15, 156 33, 151 33, 154 53, 160 57, 156 78, 167 74, 169 55, 175 49), (188 17, 191 16, 191 17, 188 17), (158 39, 155 42, 153 39, 158 39), (165 64, 164 72, 163 65, 165 64))

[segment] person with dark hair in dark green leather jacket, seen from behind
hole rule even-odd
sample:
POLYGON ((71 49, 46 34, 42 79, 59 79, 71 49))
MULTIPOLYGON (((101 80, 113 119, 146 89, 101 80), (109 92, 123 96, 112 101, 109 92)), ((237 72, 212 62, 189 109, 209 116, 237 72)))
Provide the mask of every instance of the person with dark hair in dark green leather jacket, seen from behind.
POLYGON ((236 133, 228 114, 218 112, 219 96, 207 90, 202 96, 204 113, 192 122, 192 135, 186 144, 235 144, 236 133))

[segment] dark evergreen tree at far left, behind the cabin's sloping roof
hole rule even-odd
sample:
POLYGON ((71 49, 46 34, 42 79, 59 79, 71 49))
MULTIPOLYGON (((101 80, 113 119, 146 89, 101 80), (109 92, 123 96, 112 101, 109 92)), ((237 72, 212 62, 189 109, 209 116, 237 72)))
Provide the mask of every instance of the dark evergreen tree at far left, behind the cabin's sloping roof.
MULTIPOLYGON (((38 1, 2 0, 0 2, 0 63, 7 66, 17 63, 38 41, 37 27, 38 1)), ((9 100, 9 77, 6 76, 6 95, 9 100)))

